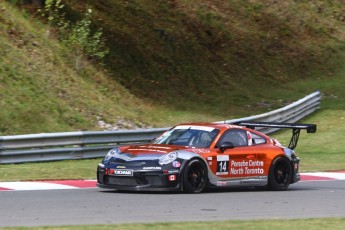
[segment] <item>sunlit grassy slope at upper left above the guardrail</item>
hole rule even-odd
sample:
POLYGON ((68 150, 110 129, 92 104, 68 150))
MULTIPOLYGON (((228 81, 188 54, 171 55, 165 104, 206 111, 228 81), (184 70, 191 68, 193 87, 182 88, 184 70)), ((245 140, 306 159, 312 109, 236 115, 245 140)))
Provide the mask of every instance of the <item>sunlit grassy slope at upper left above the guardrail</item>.
POLYGON ((45 29, 40 20, 0 1, 1 136, 101 130, 99 120, 147 119, 152 108, 105 71, 93 65, 75 71, 69 50, 56 36, 47 38, 45 29))

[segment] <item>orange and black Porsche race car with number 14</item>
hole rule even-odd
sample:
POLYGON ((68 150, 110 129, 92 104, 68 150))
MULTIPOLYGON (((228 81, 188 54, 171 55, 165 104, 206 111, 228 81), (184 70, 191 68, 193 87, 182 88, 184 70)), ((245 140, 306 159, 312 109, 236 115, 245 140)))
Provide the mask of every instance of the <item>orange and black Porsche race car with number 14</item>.
POLYGON ((265 187, 284 191, 300 180, 294 148, 301 129, 315 124, 240 122, 189 123, 148 144, 111 149, 97 167, 100 188, 199 193, 210 187, 265 187), (255 130, 289 128, 288 147, 255 130))

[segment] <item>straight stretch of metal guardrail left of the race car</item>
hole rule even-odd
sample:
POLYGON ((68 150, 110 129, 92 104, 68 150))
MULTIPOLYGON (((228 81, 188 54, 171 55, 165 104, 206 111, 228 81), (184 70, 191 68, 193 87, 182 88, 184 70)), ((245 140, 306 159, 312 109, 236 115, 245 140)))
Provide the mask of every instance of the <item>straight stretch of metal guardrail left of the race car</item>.
POLYGON ((0 137, 0 164, 102 157, 114 146, 147 143, 167 129, 3 136, 0 137))

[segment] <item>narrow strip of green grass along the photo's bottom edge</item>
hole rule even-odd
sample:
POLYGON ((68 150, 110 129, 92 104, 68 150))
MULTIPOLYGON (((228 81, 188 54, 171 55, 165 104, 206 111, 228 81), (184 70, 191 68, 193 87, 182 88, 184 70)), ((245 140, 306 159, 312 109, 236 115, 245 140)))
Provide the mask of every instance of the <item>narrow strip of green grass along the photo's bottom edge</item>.
POLYGON ((22 229, 49 229, 49 230, 79 230, 79 229, 119 229, 119 230, 134 230, 134 229, 161 229, 161 230, 184 230, 184 229, 199 229, 199 230, 222 230, 222 229, 244 229, 244 230, 269 230, 269 229, 305 229, 305 230, 342 230, 345 227, 345 218, 320 218, 320 219, 292 219, 292 220, 255 220, 255 221, 218 221, 218 222, 182 222, 182 223, 157 223, 157 224, 122 224, 122 225, 80 225, 80 226, 59 226, 59 227, 25 227, 25 228, 2 228, 12 230, 22 229))

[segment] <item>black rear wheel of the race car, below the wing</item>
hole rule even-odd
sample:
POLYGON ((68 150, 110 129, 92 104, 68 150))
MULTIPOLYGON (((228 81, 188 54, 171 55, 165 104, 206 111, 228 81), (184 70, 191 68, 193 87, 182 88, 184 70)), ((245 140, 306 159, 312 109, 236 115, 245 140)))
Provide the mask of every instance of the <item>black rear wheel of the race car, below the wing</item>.
POLYGON ((290 161, 285 157, 276 158, 269 171, 268 189, 272 191, 285 191, 292 178, 292 167, 290 161))

